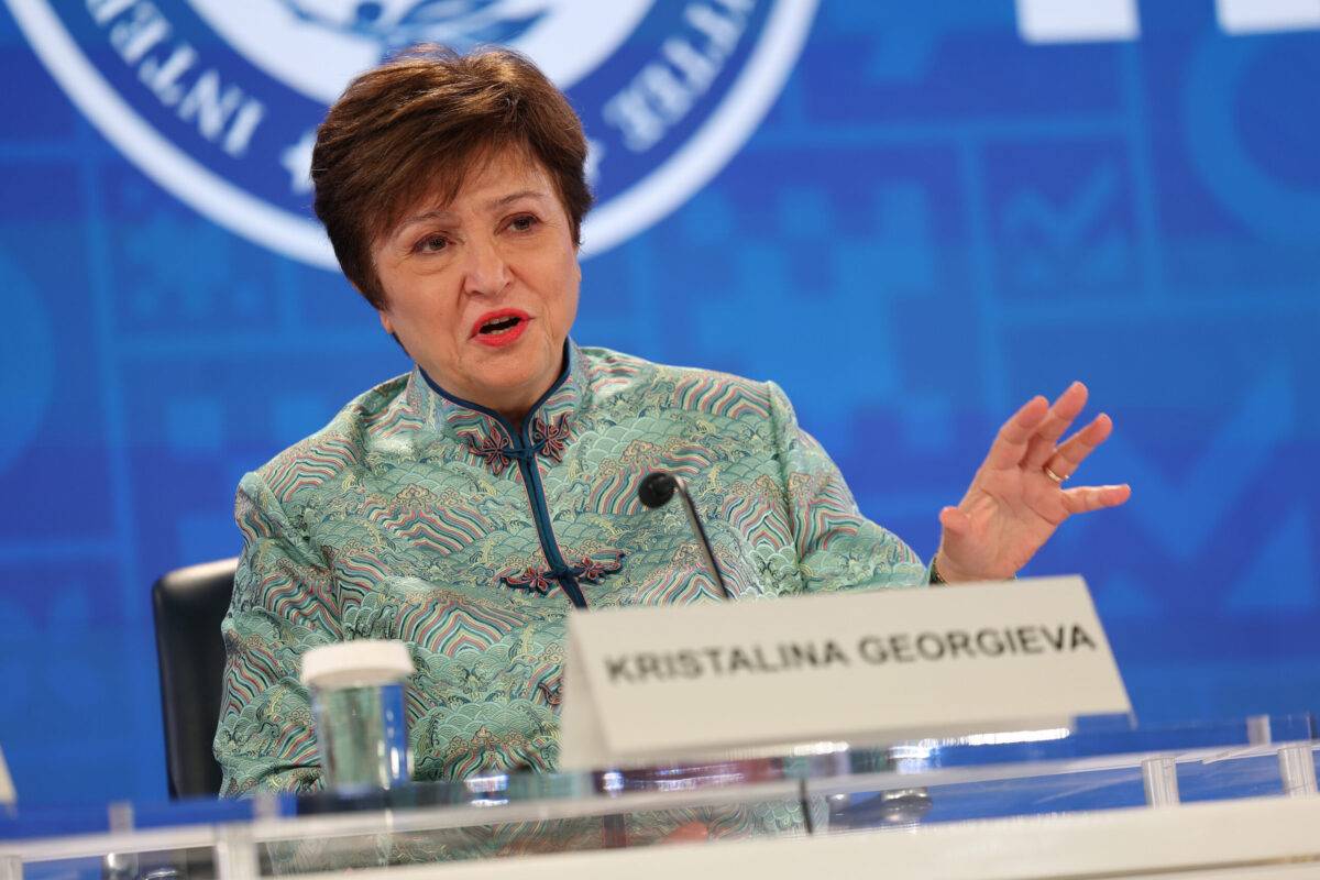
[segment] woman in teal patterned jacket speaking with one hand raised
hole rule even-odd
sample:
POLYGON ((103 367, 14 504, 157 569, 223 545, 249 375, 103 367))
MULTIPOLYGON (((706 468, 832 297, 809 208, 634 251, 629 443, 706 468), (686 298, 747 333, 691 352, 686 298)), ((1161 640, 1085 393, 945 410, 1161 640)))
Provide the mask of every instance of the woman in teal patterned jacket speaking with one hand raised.
POLYGON ((570 339, 585 160, 564 95, 508 51, 417 50, 330 110, 317 215, 416 367, 239 486, 227 793, 318 784, 297 672, 342 639, 411 645, 417 778, 552 769, 569 611, 718 595, 681 513, 635 500, 652 470, 686 478, 738 600, 1008 578, 1069 515, 1127 499, 1060 486, 1110 431, 1060 443, 1074 384, 1005 424, 923 566, 774 384, 570 339))

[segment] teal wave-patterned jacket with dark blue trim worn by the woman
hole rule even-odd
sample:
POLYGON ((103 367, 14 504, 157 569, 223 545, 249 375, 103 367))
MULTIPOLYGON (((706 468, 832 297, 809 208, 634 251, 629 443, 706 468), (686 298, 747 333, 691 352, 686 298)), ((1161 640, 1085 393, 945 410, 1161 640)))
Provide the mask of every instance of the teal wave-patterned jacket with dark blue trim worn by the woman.
POLYGON ((568 615, 719 600, 678 505, 638 501, 652 470, 688 482, 739 602, 924 582, 776 385, 566 354, 521 430, 414 368, 243 478, 226 793, 319 785, 300 660, 347 639, 409 645, 414 778, 554 769, 568 615))

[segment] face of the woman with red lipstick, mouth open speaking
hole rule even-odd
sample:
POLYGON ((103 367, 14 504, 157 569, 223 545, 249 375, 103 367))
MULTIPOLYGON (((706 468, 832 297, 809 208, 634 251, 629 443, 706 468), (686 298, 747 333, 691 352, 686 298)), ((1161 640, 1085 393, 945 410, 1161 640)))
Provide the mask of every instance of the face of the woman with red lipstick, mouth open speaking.
POLYGON ((380 323, 445 391, 517 422, 558 377, 582 280, 549 174, 519 150, 475 165, 372 247, 380 323))

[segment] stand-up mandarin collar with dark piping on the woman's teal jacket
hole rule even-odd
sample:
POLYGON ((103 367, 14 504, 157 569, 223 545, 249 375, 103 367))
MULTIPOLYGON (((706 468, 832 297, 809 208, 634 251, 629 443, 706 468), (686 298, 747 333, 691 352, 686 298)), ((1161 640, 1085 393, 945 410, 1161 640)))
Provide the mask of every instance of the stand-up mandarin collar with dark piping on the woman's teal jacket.
POLYGON ((582 352, 572 339, 564 343, 564 359, 562 372, 528 410, 521 431, 495 410, 445 391, 420 364, 408 377, 408 396, 428 424, 486 458, 496 472, 523 455, 560 460, 587 392, 582 352))

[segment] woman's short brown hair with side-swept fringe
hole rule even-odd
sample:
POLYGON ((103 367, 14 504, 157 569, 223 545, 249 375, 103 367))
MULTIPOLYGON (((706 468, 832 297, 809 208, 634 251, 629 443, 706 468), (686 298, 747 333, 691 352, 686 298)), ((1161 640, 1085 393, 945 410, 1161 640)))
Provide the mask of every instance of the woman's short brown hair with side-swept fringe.
POLYGON ((582 121, 525 57, 416 46, 348 84, 317 129, 312 181, 339 267, 372 306, 385 305, 372 244, 418 198, 453 199, 473 165, 506 146, 545 168, 581 244, 591 207, 582 121))

